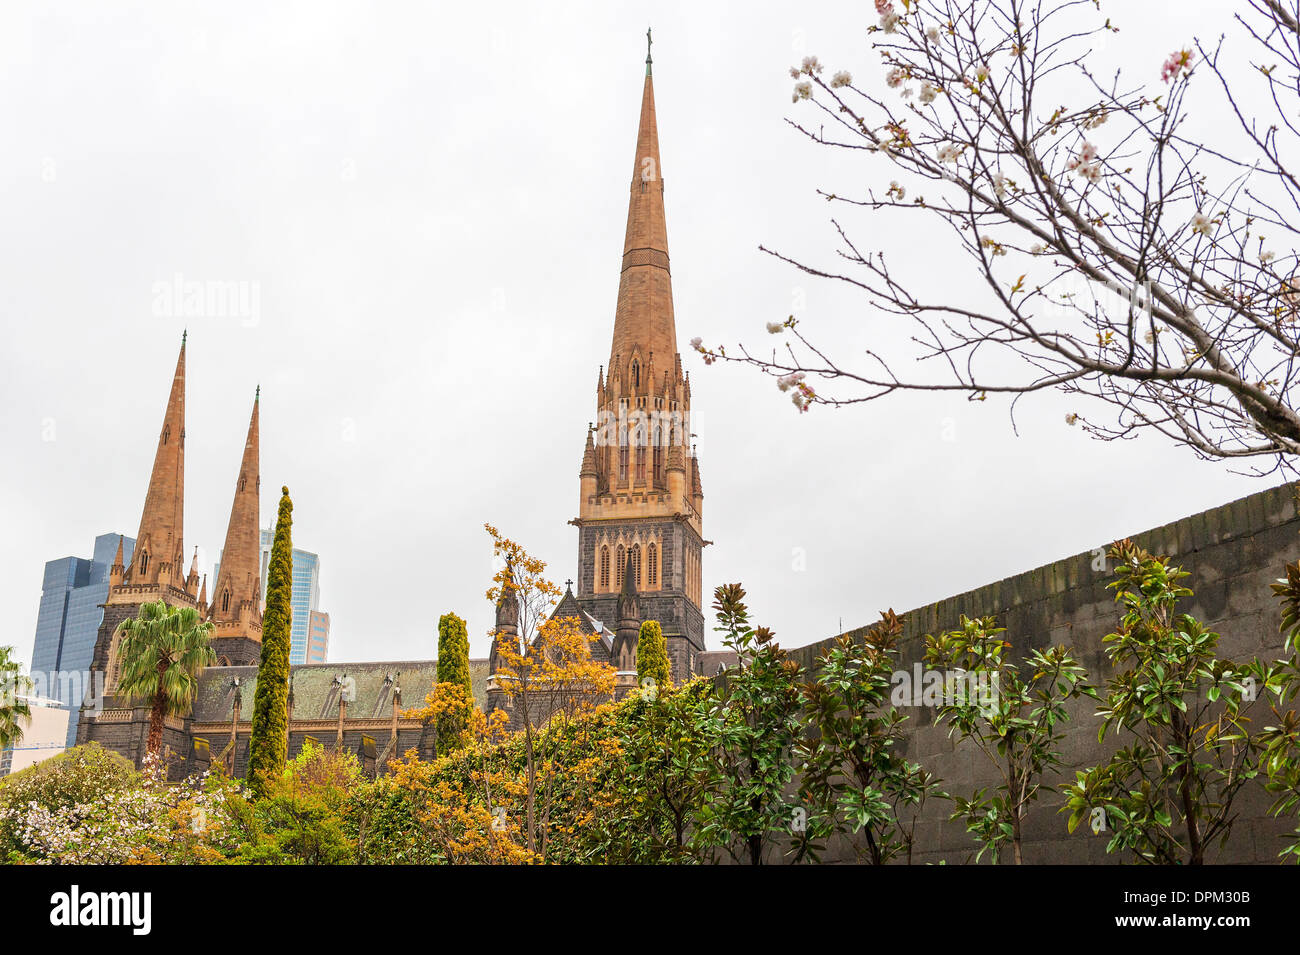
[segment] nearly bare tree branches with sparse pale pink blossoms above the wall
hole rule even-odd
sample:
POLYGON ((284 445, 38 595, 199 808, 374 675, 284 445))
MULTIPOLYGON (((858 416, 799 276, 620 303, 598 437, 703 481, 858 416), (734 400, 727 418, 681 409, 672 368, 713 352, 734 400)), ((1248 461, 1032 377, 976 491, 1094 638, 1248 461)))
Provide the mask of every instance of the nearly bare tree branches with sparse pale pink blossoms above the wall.
POLYGON ((763 251, 848 283, 906 335, 849 357, 792 316, 768 324, 772 350, 694 339, 705 360, 772 374, 801 411, 920 390, 1005 395, 1014 413, 1056 388, 1097 438, 1156 431, 1286 466, 1300 451, 1295 0, 1249 0, 1226 38, 1171 40, 1109 75, 1095 51, 1119 27, 1095 0, 876 0, 875 14, 883 84, 816 57, 790 70, 796 109, 812 110, 794 129, 878 173, 822 192, 841 210, 840 262, 763 251), (1208 117, 1222 121, 1197 134, 1208 117), (945 295, 864 246, 841 221, 862 210, 948 226, 987 294, 945 295))

